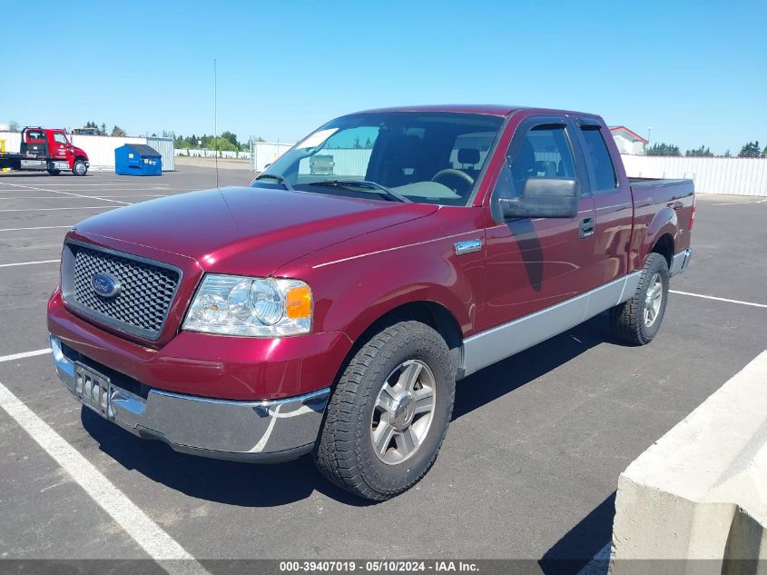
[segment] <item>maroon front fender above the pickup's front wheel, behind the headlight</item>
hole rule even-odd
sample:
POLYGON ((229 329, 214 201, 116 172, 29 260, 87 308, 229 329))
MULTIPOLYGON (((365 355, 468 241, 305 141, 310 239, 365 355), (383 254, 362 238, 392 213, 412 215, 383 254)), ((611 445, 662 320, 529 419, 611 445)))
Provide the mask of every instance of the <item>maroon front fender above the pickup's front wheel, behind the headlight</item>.
POLYGON ((275 275, 310 283, 316 331, 345 332, 356 341, 387 312, 406 303, 434 302, 469 335, 481 301, 485 253, 456 255, 455 243, 480 239, 484 246, 484 231, 463 210, 451 214, 442 209, 442 214, 370 233, 354 244, 332 246, 275 275))

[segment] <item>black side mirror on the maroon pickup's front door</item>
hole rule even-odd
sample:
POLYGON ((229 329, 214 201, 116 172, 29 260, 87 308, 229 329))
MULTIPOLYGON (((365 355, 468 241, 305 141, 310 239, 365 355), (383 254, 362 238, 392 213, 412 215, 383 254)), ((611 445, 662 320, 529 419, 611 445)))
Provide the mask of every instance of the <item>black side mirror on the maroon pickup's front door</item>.
POLYGON ((580 184, 575 178, 527 178, 522 197, 500 198, 505 220, 515 218, 574 218, 580 184))

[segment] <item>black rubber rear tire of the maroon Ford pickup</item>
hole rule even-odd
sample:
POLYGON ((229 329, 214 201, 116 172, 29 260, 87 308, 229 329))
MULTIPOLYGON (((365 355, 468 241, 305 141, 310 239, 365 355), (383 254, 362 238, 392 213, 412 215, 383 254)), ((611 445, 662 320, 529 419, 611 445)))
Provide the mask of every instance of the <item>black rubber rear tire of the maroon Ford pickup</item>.
POLYGON ((664 320, 666 302, 668 302, 668 282, 668 263, 664 256, 660 253, 651 253, 644 261, 644 268, 634 297, 610 310, 610 327, 615 339, 632 345, 645 345, 653 341, 664 320), (658 281, 661 283, 661 301, 657 311, 653 312, 653 305, 651 301, 648 301, 648 295, 654 302, 654 294, 657 294, 655 286, 658 281), (654 290, 654 294, 650 293, 651 290, 654 290), (652 317, 647 318, 645 312, 652 317), (648 324, 648 320, 652 322, 648 324))

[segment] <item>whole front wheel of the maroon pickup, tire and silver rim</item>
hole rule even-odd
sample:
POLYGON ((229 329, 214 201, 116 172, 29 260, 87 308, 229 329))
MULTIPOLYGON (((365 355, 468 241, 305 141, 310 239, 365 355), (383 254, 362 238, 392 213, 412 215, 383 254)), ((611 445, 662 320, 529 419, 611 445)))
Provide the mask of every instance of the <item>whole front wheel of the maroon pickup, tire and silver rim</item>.
POLYGON ((455 389, 438 332, 420 322, 386 328, 341 376, 315 447, 317 466, 365 499, 384 501, 408 490, 437 459, 455 389))

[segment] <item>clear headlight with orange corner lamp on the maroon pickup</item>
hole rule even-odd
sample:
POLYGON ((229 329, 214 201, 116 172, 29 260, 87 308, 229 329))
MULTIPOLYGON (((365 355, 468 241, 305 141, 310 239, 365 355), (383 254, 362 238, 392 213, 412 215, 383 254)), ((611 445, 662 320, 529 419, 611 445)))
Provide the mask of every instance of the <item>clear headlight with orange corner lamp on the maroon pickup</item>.
POLYGON ((186 312, 189 332, 280 337, 309 333, 310 287, 299 280, 208 274, 186 312))

